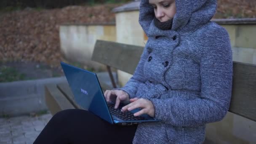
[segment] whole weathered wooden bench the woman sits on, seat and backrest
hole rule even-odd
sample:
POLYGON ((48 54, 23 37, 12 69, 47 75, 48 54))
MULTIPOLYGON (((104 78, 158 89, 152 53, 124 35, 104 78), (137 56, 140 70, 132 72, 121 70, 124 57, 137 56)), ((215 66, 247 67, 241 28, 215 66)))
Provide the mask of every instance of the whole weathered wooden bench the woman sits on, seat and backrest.
MULTIPOLYGON (((117 86, 110 67, 133 74, 143 47, 97 40, 92 60, 105 64, 112 86, 100 80, 103 90, 117 86)), ((256 121, 256 65, 233 62, 233 87, 229 112, 256 121)), ((63 109, 79 109, 67 83, 45 85, 45 100, 52 115, 63 109)))

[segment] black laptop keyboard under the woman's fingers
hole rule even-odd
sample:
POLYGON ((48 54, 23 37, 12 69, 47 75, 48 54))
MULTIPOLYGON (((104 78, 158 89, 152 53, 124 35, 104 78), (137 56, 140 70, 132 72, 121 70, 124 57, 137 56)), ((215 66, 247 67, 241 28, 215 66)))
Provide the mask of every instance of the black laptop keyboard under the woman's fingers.
POLYGON ((112 115, 115 115, 122 120, 144 120, 144 117, 135 117, 131 112, 121 112, 121 109, 119 107, 115 109, 115 104, 108 104, 108 107, 112 115))

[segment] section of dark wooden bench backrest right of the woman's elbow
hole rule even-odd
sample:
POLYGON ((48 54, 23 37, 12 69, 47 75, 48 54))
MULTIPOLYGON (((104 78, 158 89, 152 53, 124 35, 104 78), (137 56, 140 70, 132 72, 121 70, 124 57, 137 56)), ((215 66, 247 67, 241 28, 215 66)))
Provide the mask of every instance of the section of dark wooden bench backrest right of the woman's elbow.
POLYGON ((256 65, 233 62, 229 111, 256 121, 256 65))

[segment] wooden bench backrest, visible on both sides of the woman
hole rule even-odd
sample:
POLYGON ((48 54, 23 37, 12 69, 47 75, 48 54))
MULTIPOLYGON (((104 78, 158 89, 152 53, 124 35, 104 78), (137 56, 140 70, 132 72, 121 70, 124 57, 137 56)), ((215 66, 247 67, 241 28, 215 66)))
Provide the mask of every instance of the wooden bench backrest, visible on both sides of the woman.
MULTIPOLYGON (((133 74, 143 47, 97 40, 92 60, 133 74)), ((256 121, 256 65, 233 62, 229 112, 256 121)))

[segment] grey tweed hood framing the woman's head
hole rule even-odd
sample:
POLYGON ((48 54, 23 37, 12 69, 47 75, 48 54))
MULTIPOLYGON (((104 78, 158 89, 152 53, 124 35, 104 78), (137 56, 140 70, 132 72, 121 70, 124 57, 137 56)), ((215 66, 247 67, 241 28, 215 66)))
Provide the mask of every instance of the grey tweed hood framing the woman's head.
MULTIPOLYGON (((171 30, 177 32, 194 32, 208 23, 216 12, 217 0, 175 0, 176 14, 171 30)), ((154 36, 154 9, 149 0, 141 0, 139 23, 148 37, 154 36)), ((157 29, 158 30, 158 29, 157 29)), ((162 33, 162 32, 160 32, 162 33)))

